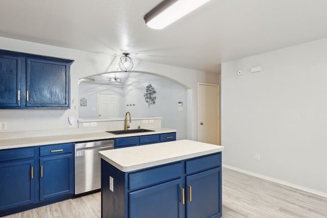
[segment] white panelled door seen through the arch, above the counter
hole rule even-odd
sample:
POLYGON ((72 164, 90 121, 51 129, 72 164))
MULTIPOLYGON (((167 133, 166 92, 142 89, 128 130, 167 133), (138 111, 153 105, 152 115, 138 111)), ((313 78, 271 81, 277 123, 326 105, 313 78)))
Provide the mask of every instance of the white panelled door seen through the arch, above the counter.
POLYGON ((98 118, 118 117, 119 111, 118 94, 98 93, 98 118))

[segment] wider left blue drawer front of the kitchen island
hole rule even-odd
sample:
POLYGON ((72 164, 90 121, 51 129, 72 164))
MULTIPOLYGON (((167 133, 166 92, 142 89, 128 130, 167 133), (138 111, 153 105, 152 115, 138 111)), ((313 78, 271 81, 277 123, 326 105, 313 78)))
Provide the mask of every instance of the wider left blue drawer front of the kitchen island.
POLYGON ((135 190, 182 176, 182 163, 174 163, 128 174, 129 189, 135 190))

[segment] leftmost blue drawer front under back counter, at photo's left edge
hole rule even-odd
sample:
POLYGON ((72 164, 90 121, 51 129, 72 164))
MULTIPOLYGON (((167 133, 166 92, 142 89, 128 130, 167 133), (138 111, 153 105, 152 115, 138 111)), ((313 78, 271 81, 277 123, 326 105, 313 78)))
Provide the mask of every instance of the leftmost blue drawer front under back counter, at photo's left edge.
POLYGON ((0 150, 0 162, 34 157, 34 147, 0 150))

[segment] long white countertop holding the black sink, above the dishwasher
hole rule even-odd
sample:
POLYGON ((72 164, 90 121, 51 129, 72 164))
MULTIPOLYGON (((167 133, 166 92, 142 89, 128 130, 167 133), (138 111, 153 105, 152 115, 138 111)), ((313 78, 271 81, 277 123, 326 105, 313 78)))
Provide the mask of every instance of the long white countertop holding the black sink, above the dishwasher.
POLYGON ((58 144, 68 142, 90 141, 100 139, 121 138, 137 135, 152 135, 160 133, 176 132, 175 129, 168 128, 147 128, 155 132, 143 132, 132 134, 114 135, 107 132, 83 133, 83 134, 67 134, 67 135, 52 135, 42 137, 29 137, 29 138, 14 138, 14 139, 0 139, 0 150, 13 149, 31 146, 42 146, 46 144, 58 144))

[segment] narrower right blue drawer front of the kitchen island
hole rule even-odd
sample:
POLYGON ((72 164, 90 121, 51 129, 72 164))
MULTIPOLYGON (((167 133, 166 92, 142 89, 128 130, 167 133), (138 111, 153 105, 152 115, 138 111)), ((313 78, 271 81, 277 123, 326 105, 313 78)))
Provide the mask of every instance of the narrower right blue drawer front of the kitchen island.
POLYGON ((201 172, 221 165, 221 152, 186 161, 186 174, 201 172))

